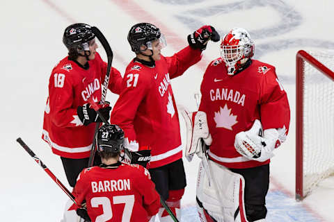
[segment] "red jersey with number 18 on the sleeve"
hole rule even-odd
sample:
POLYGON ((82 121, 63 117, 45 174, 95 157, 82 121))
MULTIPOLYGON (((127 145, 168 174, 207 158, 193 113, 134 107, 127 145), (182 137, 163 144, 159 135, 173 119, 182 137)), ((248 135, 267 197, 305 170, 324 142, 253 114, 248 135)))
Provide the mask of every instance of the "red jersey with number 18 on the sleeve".
MULTIPOLYGON (((88 64, 89 69, 84 69, 66 57, 54 67, 49 78, 42 139, 49 143, 53 153, 62 157, 79 159, 90 154, 95 123, 83 126, 77 107, 88 103, 89 96, 100 101, 106 62, 96 53, 88 64)), ((122 89, 122 76, 115 68, 111 69, 109 89, 116 94, 122 89)))

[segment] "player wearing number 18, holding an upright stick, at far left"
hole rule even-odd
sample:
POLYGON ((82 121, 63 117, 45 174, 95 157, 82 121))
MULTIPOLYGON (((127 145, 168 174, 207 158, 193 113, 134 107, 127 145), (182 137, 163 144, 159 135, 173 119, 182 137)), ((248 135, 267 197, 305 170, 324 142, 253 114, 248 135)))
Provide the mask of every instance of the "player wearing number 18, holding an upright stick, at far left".
MULTIPOLYGON (((61 156, 67 181, 74 187, 79 173, 88 167, 95 122, 100 121, 88 98, 100 101, 107 65, 96 51, 95 33, 87 24, 65 28, 63 44, 68 56, 58 62, 49 78, 42 139, 61 156)), ((120 94, 121 83, 120 72, 111 68, 111 92, 120 94)), ((105 119, 109 119, 110 110, 109 105, 102 105, 100 112, 105 119)))

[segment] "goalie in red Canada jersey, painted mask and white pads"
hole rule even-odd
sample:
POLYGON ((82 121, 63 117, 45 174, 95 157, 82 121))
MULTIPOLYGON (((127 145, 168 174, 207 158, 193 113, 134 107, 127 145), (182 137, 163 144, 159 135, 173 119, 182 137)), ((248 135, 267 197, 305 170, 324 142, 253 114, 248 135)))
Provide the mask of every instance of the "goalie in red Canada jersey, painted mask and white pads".
POLYGON ((200 138, 209 145, 198 175, 202 221, 265 221, 267 215, 269 162, 286 139, 290 110, 275 67, 253 54, 248 32, 233 28, 221 42, 221 58, 205 71, 199 111, 184 113, 187 157, 201 153, 200 138))

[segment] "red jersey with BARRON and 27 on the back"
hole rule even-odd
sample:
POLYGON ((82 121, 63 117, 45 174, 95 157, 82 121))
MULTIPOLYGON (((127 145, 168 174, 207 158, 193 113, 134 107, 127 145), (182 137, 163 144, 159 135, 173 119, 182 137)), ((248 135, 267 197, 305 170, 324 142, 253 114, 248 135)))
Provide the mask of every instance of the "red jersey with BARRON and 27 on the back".
POLYGON ((92 221, 148 221, 160 207, 150 173, 137 164, 84 169, 73 195, 79 204, 86 200, 92 221))

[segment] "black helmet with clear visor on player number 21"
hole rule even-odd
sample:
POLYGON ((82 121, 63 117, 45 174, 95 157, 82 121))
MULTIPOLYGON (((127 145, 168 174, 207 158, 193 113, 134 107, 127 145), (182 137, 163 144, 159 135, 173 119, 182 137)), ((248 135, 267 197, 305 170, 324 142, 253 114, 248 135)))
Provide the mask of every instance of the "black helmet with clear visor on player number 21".
POLYGON ((152 42, 155 40, 159 40, 162 48, 166 46, 166 39, 159 28, 149 23, 139 23, 132 26, 127 35, 127 40, 135 53, 141 53, 146 49, 152 50, 152 42), (141 49, 141 46, 145 46, 145 49, 141 49))

